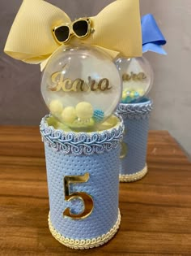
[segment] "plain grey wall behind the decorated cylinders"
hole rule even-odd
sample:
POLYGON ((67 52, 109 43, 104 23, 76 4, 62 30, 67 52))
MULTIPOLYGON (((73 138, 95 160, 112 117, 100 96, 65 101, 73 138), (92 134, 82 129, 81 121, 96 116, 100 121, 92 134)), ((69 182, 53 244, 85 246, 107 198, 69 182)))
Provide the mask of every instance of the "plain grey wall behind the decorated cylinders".
MULTIPOLYGON (((32 0, 31 0, 32 1, 32 0)), ((128 0, 127 0, 128 1, 128 0)), ((0 124, 39 124, 47 110, 40 96, 39 67, 12 60, 2 50, 22 0, 0 2, 0 124)), ((72 19, 96 15, 111 0, 49 0, 72 19)), ((155 71, 151 129, 165 129, 191 154, 191 1, 140 0, 168 40, 168 56, 146 54, 155 71)))

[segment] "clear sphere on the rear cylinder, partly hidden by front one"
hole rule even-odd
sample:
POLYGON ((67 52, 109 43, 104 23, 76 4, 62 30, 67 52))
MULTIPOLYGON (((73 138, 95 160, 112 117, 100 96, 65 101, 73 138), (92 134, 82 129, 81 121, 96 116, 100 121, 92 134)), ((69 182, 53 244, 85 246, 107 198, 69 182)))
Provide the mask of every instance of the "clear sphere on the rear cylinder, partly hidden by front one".
POLYGON ((150 63, 143 57, 116 61, 123 81, 121 103, 139 102, 149 93, 154 80, 150 63))

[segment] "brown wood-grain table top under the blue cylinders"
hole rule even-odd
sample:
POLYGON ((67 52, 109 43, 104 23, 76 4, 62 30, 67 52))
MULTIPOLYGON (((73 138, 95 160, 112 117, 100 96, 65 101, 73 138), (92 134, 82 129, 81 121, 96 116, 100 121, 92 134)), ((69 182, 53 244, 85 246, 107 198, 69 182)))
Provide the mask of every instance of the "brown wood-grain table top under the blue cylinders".
POLYGON ((191 255, 191 163, 168 132, 150 132, 149 173, 120 185, 121 228, 108 244, 68 249, 51 236, 37 127, 0 128, 0 255, 191 255))

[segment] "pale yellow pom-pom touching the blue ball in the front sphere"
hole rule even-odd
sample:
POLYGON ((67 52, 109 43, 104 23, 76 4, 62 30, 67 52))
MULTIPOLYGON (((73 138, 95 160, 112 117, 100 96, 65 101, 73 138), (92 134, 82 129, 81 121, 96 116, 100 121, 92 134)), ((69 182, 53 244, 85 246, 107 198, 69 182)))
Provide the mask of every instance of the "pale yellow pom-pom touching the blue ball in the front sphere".
POLYGON ((87 119, 91 119, 91 117, 94 114, 93 107, 89 102, 79 102, 75 110, 76 110, 76 115, 79 117, 79 119, 83 121, 87 119))

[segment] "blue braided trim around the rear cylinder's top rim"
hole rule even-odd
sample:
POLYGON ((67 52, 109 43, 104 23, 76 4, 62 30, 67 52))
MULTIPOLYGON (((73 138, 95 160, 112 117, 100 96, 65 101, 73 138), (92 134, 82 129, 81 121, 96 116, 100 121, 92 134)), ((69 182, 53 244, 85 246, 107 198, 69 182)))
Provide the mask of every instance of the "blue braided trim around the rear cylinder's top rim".
POLYGON ((142 103, 120 104, 117 109, 117 114, 123 119, 146 119, 151 114, 153 102, 147 101, 142 103))

